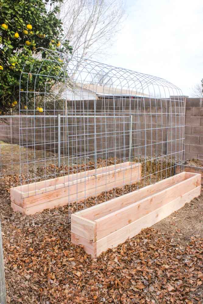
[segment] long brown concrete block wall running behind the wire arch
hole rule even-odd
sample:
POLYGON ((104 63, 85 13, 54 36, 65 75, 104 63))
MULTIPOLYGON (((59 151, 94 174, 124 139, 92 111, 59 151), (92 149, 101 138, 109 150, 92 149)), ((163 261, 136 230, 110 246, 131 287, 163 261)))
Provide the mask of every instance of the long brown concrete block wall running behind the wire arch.
MULTIPOLYGON (((103 113, 105 109, 109 110, 110 117, 97 118, 96 124, 96 152, 105 155, 105 157, 112 157, 117 150, 117 157, 128 157, 129 153, 129 119, 123 119, 119 116, 112 116, 112 112, 123 111, 122 103, 119 99, 105 99, 97 100, 97 113, 103 113), (116 120, 116 124, 115 124, 116 120), (125 120, 125 121, 124 121, 125 120), (106 154, 107 151, 107 154, 106 154)), ((169 154, 176 155, 177 158, 182 158, 181 153, 176 151, 184 150, 183 138, 185 129, 185 159, 199 158, 203 159, 203 98, 185 98, 186 108, 178 105, 175 107, 175 102, 168 100, 148 100, 145 98, 145 105, 141 101, 126 100, 126 112, 136 112, 139 108, 139 119, 135 114, 133 115, 133 134, 132 134, 132 155, 142 154, 169 154), (184 112, 185 110, 185 112, 184 112), (178 112, 180 111, 180 112, 178 112), (139 123, 138 123, 138 121, 139 123), (184 128, 185 120, 185 128, 184 128), (141 129, 138 135, 139 128, 141 129), (145 131, 145 129, 147 129, 145 131), (145 142, 146 136, 146 142, 145 142), (145 150, 145 143, 147 145, 145 150), (142 148, 139 148, 139 145, 142 148)), ((89 114, 94 114, 94 101, 84 101, 83 105, 78 101, 76 103, 76 110, 80 113, 81 109, 89 114)), ((69 102, 68 109, 72 109, 72 103, 69 102)), ((40 117, 39 117, 40 119, 40 117)), ((19 119, 12 118, 12 121, 2 123, 0 126, 0 140, 8 143, 19 143, 19 119)), ((21 134, 21 141, 33 144, 33 122, 30 118, 22 122, 23 126, 30 126, 27 131, 24 130, 21 134)), ((64 125, 62 122, 61 125, 64 125)), ((39 126, 35 130, 35 148, 38 150, 46 149, 47 151, 57 152, 58 130, 57 119, 54 120, 51 116, 45 121, 36 119, 35 126, 39 126), (56 126, 56 127, 53 127, 56 126), (43 135, 41 135, 41 132, 43 135)), ((77 128, 75 128, 75 119, 68 118, 68 152, 69 155, 93 155, 95 151, 94 138, 94 119, 88 120, 77 118, 77 128), (87 130, 88 124, 88 130, 87 130), (90 134, 85 137, 84 134, 90 134), (86 149, 82 147, 82 141, 86 141, 86 149)), ((67 142, 64 129, 61 127, 61 153, 67 153, 67 147, 63 143, 67 142)), ((99 156, 98 156, 99 157, 99 156)))

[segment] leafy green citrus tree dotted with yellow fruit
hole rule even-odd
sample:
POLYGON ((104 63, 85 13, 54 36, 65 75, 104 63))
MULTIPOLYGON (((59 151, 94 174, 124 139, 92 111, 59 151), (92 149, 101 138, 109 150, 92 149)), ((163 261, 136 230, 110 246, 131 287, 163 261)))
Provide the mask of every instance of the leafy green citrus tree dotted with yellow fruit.
MULTIPOLYGON (((72 51, 69 40, 60 41, 63 38, 63 28, 61 20, 57 18, 59 7, 48 11, 47 3, 57 4, 61 0, 0 0, 0 113, 10 112, 16 109, 19 102, 19 82, 20 75, 25 65, 24 71, 32 73, 38 71, 40 60, 34 58, 34 54, 39 51, 39 47, 62 52, 72 51)), ((44 53, 45 59, 48 53, 44 53)), ((36 57, 36 56, 35 56, 36 57)), ((57 65, 57 64, 56 64, 57 65)), ((45 60, 42 73, 49 72, 50 64, 45 60)), ((60 76, 60 71, 52 67, 52 72, 60 76)), ((46 91, 51 90, 55 78, 47 84, 46 91)), ((27 91, 35 85, 35 90, 42 89, 44 79, 38 77, 37 81, 32 74, 21 78, 21 90, 27 91)), ((22 107, 27 107, 26 103, 22 107)), ((30 103, 32 98, 30 96, 30 103)), ((31 105, 32 106, 32 105, 31 105)), ((41 108, 40 108, 40 111, 41 108)))

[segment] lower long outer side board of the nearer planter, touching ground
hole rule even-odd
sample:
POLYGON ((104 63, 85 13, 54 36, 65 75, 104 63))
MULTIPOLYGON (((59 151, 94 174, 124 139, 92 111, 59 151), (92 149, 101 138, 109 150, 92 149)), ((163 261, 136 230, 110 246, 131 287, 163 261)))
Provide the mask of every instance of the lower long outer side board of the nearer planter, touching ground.
MULTIPOLYGON (((185 203, 190 202, 195 197, 198 197, 201 193, 201 186, 192 189, 182 197, 179 197, 172 202, 160 207, 159 209, 149 213, 148 215, 138 219, 137 221, 109 234, 108 236, 98 240, 96 243, 96 256, 99 256, 103 251, 108 248, 114 248, 119 244, 124 243, 128 238, 134 237, 142 229, 151 227, 158 223, 160 220, 169 216, 174 211, 182 208, 185 203)), ((95 257, 93 255, 93 257, 95 257)))

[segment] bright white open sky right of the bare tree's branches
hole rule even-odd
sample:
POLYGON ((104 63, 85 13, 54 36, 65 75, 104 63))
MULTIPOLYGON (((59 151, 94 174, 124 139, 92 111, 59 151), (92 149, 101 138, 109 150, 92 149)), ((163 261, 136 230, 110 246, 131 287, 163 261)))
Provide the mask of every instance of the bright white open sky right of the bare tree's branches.
POLYGON ((203 78, 203 1, 126 0, 128 18, 105 63, 162 77, 184 95, 203 78))

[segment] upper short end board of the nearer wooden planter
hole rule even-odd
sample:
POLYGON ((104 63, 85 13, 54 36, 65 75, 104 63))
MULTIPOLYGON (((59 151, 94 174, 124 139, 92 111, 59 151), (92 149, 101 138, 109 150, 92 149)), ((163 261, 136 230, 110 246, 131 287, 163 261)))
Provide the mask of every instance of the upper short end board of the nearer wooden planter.
POLYGON ((86 240, 96 241, 96 223, 81 216, 71 215, 71 232, 86 240))

